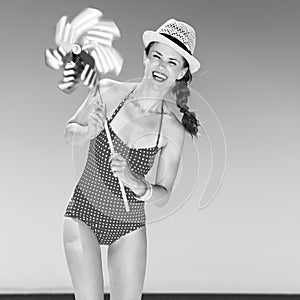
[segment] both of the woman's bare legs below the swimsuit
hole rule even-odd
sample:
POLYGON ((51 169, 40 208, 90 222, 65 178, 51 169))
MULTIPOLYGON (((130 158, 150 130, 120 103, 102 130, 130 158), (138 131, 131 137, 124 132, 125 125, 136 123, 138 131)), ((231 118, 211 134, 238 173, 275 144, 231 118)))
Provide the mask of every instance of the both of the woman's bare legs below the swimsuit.
MULTIPOLYGON (((76 300, 104 299, 101 249, 94 232, 82 221, 65 217, 64 250, 76 300)), ((110 299, 141 299, 147 261, 146 226, 108 246, 110 299)))

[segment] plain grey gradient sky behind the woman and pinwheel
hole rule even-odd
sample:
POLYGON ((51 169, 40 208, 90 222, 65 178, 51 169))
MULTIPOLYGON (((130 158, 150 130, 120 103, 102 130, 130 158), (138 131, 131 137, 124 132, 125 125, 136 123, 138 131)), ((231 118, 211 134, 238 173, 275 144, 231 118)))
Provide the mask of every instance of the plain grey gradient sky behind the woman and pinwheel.
POLYGON ((197 32, 191 105, 205 132, 186 137, 170 204, 147 207, 144 292, 300 293, 300 2, 291 0, 0 2, 0 292, 72 292, 62 222, 87 147, 72 151, 63 132, 87 90, 63 94, 44 50, 60 17, 88 6, 121 30, 125 64, 110 76, 120 81, 143 75, 145 30, 175 18, 197 32))

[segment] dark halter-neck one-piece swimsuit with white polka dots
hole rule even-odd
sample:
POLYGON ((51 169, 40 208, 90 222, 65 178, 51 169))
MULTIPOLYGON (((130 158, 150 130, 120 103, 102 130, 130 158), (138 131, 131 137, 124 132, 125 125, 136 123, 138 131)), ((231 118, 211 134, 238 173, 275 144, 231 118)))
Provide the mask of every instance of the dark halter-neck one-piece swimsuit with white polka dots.
MULTIPOLYGON (((134 174, 144 177, 152 168, 155 156, 160 150, 158 142, 164 101, 161 105, 156 145, 149 148, 133 148, 127 146, 110 125, 131 93, 120 102, 107 123, 115 152, 126 159, 134 174)), ((85 168, 64 214, 66 217, 85 222, 95 233, 100 245, 111 245, 127 233, 145 226, 146 221, 145 203, 135 199, 133 191, 124 185, 130 207, 130 211, 126 212, 118 178, 113 176, 108 161, 110 154, 106 132, 103 129, 90 141, 85 168)))

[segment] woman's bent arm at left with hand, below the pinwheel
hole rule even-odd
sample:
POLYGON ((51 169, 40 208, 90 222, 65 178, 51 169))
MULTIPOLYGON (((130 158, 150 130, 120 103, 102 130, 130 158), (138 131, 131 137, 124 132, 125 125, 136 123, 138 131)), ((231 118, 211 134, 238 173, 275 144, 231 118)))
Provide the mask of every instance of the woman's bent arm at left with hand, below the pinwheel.
MULTIPOLYGON (((102 79, 100 81, 101 91, 107 90, 112 82, 110 79, 102 79)), ((105 115, 105 107, 101 105, 99 95, 94 96, 91 91, 66 124, 64 132, 66 142, 73 145, 83 145, 96 137, 103 129, 105 115)))

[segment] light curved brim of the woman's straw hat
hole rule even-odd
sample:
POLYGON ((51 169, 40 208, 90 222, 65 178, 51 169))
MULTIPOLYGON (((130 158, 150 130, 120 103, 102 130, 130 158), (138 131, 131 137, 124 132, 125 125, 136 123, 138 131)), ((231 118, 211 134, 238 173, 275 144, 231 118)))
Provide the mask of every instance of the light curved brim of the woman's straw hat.
POLYGON ((181 48, 176 43, 172 42, 167 37, 163 36, 162 34, 152 31, 152 30, 146 30, 143 33, 143 42, 145 47, 149 45, 151 42, 160 42, 167 44, 168 46, 172 47, 174 50, 176 50, 180 55, 182 55, 187 62, 189 63, 190 72, 195 73, 200 68, 200 62, 191 54, 189 54, 187 51, 185 51, 183 48, 181 48))

